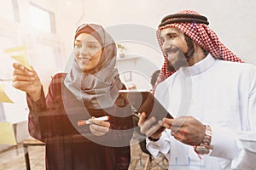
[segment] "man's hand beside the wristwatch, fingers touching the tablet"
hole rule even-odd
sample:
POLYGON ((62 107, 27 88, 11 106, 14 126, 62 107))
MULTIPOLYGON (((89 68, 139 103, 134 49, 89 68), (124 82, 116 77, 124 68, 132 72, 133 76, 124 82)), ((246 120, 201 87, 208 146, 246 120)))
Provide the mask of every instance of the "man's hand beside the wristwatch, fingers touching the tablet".
POLYGON ((175 119, 164 118, 163 125, 172 130, 172 136, 183 144, 201 144, 206 127, 193 116, 179 116, 175 119))

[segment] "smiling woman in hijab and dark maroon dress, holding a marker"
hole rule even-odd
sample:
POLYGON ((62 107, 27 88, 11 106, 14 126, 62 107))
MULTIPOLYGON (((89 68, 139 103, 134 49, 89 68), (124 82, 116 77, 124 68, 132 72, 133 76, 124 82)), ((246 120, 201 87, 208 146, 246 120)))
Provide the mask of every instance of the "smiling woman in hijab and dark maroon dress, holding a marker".
POLYGON ((67 73, 52 78, 46 98, 36 71, 14 64, 13 86, 27 94, 29 131, 46 144, 47 169, 128 169, 133 122, 119 95, 125 87, 112 37, 102 26, 79 26, 71 60, 67 73), (94 119, 100 116, 108 122, 94 119), (79 126, 89 118, 90 125, 79 126))

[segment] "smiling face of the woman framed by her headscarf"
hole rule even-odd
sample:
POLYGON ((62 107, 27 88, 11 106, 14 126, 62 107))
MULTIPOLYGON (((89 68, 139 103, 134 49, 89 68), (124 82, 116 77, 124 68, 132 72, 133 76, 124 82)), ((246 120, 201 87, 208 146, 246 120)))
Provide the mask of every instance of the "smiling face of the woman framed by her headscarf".
POLYGON ((102 57, 102 46, 90 34, 81 33, 74 43, 75 59, 83 71, 90 71, 96 67, 102 57))

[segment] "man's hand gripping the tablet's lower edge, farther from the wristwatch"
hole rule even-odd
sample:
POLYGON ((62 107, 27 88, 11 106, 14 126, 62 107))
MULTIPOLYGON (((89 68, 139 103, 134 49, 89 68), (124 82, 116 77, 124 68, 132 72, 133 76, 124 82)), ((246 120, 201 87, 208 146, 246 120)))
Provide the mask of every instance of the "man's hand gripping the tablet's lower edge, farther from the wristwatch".
POLYGON ((163 132, 164 128, 162 130, 158 129, 161 127, 162 121, 158 122, 156 125, 152 125, 154 122, 156 122, 155 117, 153 116, 148 120, 146 119, 147 114, 145 112, 139 114, 139 122, 137 124, 139 127, 141 127, 141 133, 152 139, 160 139, 161 133, 163 132))

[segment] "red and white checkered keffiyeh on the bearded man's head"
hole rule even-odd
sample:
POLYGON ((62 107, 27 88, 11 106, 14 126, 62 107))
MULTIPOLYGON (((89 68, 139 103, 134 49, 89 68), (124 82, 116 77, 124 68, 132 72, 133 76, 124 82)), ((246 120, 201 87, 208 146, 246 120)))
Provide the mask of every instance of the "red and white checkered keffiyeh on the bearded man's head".
MULTIPOLYGON (((195 11, 184 10, 178 12, 177 14, 195 14, 200 15, 195 11)), ((172 20, 172 19, 171 19, 172 20)), ((201 46, 201 48, 206 49, 212 56, 216 59, 224 59, 234 62, 243 62, 239 59, 236 54, 232 53, 230 49, 226 48, 222 42, 219 41, 216 33, 210 29, 209 26, 205 24, 199 24, 196 22, 181 22, 181 23, 172 23, 167 24, 166 26, 161 26, 157 30, 157 39, 160 43, 160 48, 162 49, 162 42, 160 41, 160 31, 167 27, 176 27, 180 31, 183 31, 188 37, 190 37, 194 42, 201 46)), ((166 55, 165 53, 165 62, 161 68, 160 75, 156 82, 156 85, 162 81, 164 81, 167 77, 170 77, 175 71, 167 71, 166 66, 166 55)))

